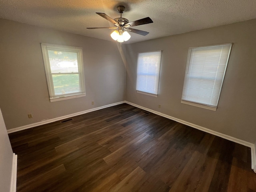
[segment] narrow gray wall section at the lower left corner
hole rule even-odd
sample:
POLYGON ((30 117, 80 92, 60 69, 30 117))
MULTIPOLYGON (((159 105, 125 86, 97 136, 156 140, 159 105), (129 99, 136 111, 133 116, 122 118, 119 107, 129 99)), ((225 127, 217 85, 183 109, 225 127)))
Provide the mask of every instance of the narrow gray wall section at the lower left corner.
POLYGON ((0 109, 0 191, 9 192, 12 177, 12 147, 0 109))

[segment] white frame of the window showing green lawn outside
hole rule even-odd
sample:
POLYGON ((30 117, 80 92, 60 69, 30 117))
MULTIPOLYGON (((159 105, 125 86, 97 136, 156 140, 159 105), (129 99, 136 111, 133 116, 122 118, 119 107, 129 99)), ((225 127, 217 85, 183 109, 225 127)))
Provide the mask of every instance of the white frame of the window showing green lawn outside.
POLYGON ((82 48, 74 47, 74 46, 48 44, 48 43, 40 43, 40 44, 41 44, 41 48, 42 48, 44 70, 45 70, 45 74, 46 74, 46 81, 47 81, 47 86, 48 86, 48 94, 49 94, 50 102, 56 102, 56 101, 60 101, 60 100, 67 100, 67 99, 79 98, 79 97, 86 96, 85 83, 84 83, 84 62, 83 62, 82 48), (65 72, 63 74, 78 74, 80 92, 59 94, 59 95, 55 94, 54 84, 53 84, 54 81, 53 81, 52 76, 54 74, 56 75, 59 73, 54 73, 51 71, 48 50, 77 53, 78 72, 65 72))

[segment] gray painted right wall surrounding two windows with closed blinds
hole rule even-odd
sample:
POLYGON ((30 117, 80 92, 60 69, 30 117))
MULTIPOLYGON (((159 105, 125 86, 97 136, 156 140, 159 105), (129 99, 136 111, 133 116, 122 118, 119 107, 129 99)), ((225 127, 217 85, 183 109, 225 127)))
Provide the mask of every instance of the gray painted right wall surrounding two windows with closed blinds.
MULTIPOLYGON (((174 26, 175 27, 175 26, 174 26)), ((235 138, 256 141, 256 20, 127 45, 126 100, 235 138), (233 43, 215 111, 181 104, 189 47, 233 43), (162 51, 158 98, 136 93, 138 52, 162 51), (162 107, 159 109, 158 104, 162 107)))

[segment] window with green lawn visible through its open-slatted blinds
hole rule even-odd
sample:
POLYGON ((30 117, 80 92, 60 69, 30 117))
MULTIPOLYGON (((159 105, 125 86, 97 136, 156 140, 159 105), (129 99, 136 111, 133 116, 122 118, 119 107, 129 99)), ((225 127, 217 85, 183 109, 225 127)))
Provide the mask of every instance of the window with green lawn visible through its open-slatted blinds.
POLYGON ((82 48, 41 43, 50 102, 85 96, 82 48))

